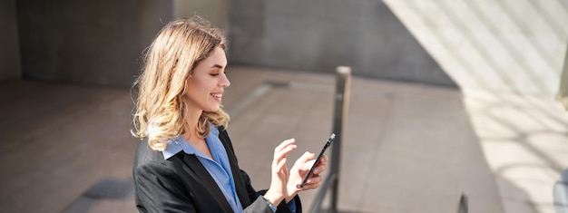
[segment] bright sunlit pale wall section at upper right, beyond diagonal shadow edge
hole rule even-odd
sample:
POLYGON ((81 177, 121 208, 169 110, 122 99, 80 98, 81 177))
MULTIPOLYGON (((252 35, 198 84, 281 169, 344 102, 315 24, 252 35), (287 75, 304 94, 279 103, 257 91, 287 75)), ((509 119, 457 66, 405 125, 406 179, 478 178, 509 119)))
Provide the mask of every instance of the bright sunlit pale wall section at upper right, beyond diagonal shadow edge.
POLYGON ((551 96, 568 44, 568 1, 387 0, 462 88, 551 96))

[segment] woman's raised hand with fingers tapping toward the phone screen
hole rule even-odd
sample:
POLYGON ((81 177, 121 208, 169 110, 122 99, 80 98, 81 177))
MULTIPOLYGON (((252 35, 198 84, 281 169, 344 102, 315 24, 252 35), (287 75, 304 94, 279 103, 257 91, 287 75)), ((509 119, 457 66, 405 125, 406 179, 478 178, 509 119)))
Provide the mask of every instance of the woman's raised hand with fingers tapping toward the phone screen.
POLYGON ((286 187, 288 184, 289 170, 286 166, 286 155, 290 151, 296 150, 297 146, 294 142, 296 142, 294 139, 284 140, 274 149, 270 188, 266 194, 264 194, 264 198, 267 198, 274 207, 277 207, 280 201, 284 199, 284 196, 288 194, 286 187))

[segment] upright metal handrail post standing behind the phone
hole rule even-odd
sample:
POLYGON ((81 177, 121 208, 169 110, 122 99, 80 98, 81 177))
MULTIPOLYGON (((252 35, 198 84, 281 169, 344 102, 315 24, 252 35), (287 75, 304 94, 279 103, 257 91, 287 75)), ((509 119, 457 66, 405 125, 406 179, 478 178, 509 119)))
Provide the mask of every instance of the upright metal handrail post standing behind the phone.
POLYGON ((337 81, 333 111, 333 132, 336 134, 336 139, 331 145, 331 167, 329 169, 328 177, 320 186, 318 195, 312 203, 310 212, 314 213, 321 210, 321 203, 323 202, 328 189, 331 190, 329 212, 335 213, 338 211, 339 162, 341 160, 341 141, 343 140, 343 130, 345 129, 345 121, 347 121, 348 114, 351 68, 347 66, 338 66, 338 68, 336 68, 336 73, 337 81))

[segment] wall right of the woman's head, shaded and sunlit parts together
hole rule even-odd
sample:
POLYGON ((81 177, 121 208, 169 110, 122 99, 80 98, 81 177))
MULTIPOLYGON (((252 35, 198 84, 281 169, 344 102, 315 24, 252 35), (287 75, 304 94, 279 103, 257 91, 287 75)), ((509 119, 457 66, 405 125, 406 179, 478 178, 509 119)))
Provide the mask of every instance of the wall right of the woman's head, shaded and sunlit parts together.
POLYGON ((568 1, 232 2, 230 61, 553 96, 568 1))

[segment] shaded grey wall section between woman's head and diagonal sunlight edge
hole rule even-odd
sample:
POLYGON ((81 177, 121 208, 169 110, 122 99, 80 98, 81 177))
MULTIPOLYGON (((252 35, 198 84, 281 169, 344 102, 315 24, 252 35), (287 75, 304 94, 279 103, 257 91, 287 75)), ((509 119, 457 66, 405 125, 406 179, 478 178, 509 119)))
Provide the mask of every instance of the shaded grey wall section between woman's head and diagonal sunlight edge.
POLYGON ((455 85, 382 1, 233 1, 230 63, 455 85))

